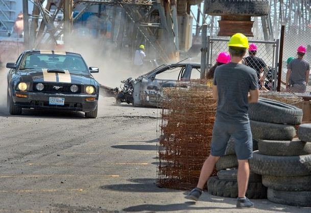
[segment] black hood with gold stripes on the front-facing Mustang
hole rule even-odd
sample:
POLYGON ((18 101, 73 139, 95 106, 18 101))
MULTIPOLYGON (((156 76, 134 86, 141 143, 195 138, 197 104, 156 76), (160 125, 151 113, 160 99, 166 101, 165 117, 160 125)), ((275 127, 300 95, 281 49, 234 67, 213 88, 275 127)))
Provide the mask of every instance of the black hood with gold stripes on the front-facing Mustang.
POLYGON ((94 84, 92 75, 47 72, 47 69, 25 69, 19 70, 20 81, 34 83, 67 83, 67 84, 94 84))

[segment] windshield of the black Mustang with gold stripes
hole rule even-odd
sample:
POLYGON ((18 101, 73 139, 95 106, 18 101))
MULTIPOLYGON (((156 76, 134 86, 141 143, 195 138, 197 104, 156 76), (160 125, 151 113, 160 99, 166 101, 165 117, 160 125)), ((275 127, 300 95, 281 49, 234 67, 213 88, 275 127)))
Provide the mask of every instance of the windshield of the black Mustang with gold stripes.
POLYGON ((68 70, 71 74, 89 74, 88 68, 81 56, 40 54, 39 52, 27 53, 19 69, 56 69, 68 70))

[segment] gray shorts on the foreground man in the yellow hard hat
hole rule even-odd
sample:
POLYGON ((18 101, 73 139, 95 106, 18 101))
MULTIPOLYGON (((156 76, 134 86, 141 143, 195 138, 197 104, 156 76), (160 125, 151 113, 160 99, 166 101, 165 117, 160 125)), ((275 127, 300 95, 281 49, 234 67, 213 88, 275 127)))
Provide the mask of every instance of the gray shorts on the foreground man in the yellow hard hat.
POLYGON ((225 154, 230 137, 234 140, 237 159, 250 159, 253 156, 253 139, 250 123, 236 124, 216 120, 211 139, 211 151, 213 156, 225 154))

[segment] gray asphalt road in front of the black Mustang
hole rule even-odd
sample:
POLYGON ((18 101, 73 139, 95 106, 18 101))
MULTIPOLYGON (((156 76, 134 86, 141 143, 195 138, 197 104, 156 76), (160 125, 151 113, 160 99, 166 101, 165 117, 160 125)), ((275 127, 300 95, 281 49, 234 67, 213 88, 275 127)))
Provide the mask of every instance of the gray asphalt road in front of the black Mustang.
MULTIPOLYGON (((5 101, 5 99, 2 99, 5 101)), ((2 102, 3 102, 2 101, 2 102)), ((310 212, 311 208, 156 187, 160 111, 101 97, 97 119, 83 113, 0 108, 0 212, 310 212)), ((1 105, 1 104, 0 104, 1 105)))

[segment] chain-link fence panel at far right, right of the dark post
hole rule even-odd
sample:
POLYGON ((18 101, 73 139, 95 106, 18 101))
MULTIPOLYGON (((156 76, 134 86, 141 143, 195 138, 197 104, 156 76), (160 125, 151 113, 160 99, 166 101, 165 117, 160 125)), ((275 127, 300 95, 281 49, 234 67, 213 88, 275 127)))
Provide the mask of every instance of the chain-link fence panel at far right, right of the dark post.
MULTIPOLYGON (((309 26, 285 26, 284 31, 284 44, 283 44, 283 57, 282 57, 282 70, 281 70, 281 88, 280 91, 285 91, 287 60, 290 57, 297 58, 297 47, 303 45, 307 48, 307 52, 303 60, 311 63, 311 28, 309 26)), ((292 71, 292 74, 295 74, 292 71)), ((311 92, 311 81, 306 83, 306 92, 311 92)), ((295 91, 294 91, 295 92, 295 91)), ((297 91, 296 91, 297 92, 297 91)), ((299 91, 298 91, 299 92, 299 91)))

